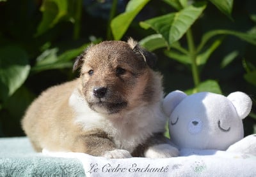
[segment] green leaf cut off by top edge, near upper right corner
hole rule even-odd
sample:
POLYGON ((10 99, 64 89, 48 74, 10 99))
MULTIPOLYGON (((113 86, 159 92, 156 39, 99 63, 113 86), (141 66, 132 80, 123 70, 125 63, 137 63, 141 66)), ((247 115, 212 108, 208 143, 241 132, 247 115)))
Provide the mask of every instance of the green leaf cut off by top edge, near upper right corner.
POLYGON ((228 18, 232 19, 232 7, 233 0, 209 0, 214 6, 216 6, 222 13, 227 15, 228 18))

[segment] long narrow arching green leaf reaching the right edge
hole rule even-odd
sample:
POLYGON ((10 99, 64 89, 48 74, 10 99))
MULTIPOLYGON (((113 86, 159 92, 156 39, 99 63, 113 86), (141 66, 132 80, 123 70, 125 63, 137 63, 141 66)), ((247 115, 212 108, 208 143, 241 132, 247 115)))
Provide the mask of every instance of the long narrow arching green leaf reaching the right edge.
POLYGON ((244 33, 244 32, 237 32, 237 31, 230 31, 230 30, 225 30, 225 29, 217 29, 217 30, 213 30, 213 31, 209 31, 207 33, 204 34, 204 36, 202 37, 202 40, 200 42, 200 44, 198 45, 198 48, 196 49, 197 52, 200 52, 200 50, 202 50, 202 48, 205 46, 205 44, 209 41, 209 39, 211 39, 214 36, 217 35, 232 35, 232 36, 236 36, 237 38, 246 41, 252 45, 256 45, 256 35, 254 33, 250 34, 250 33, 244 33))

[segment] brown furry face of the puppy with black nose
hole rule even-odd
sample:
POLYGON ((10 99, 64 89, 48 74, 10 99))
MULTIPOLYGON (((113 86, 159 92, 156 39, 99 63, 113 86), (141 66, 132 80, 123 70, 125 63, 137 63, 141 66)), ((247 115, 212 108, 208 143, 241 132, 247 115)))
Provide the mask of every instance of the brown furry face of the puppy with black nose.
POLYGON ((78 57, 75 66, 80 62, 84 99, 92 110, 115 114, 147 99, 149 67, 143 51, 136 47, 105 41, 78 57))

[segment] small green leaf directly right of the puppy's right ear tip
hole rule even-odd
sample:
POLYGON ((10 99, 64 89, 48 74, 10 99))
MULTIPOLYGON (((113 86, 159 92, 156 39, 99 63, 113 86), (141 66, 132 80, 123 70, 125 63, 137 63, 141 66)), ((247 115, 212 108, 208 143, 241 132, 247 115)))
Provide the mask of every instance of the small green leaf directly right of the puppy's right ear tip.
POLYGON ((145 47, 149 51, 156 50, 158 48, 168 47, 168 44, 164 40, 161 34, 152 34, 146 38, 141 39, 140 45, 145 47))

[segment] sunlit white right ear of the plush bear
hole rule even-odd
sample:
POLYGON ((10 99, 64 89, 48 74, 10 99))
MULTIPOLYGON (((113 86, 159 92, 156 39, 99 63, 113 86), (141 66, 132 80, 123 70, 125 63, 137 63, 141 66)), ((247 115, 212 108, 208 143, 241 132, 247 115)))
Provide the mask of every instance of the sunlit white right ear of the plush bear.
POLYGON ((243 119, 250 113, 252 109, 252 99, 243 92, 233 92, 227 96, 236 108, 237 115, 243 119))

